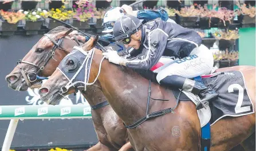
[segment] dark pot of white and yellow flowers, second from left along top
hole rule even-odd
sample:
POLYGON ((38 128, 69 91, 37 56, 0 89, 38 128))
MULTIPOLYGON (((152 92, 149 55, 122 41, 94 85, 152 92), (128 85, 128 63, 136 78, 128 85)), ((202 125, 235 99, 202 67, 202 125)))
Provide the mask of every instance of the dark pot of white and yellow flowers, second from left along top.
MULTIPOLYGON (((22 10, 23 11, 23 10, 22 10)), ((26 34, 38 34, 38 30, 41 29, 44 19, 42 18, 48 13, 46 10, 38 8, 37 10, 23 11, 25 16, 25 21, 23 21, 23 28, 26 30, 26 34)))

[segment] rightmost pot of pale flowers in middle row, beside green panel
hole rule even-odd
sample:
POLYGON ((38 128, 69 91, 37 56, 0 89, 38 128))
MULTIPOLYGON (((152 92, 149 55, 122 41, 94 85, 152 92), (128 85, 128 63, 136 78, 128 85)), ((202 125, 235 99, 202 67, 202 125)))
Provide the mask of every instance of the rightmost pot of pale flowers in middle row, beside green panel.
POLYGON ((235 39, 239 38, 238 30, 216 31, 214 37, 219 40, 219 50, 226 50, 234 45, 235 39))

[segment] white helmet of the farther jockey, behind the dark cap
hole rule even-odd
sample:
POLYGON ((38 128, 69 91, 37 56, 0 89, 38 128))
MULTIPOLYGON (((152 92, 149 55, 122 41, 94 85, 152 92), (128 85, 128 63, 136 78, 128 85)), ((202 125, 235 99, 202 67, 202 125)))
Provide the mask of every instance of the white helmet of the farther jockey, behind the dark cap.
POLYGON ((103 19, 103 31, 102 32, 113 32, 113 26, 117 19, 124 16, 124 13, 120 13, 121 7, 112 7, 105 13, 103 19))

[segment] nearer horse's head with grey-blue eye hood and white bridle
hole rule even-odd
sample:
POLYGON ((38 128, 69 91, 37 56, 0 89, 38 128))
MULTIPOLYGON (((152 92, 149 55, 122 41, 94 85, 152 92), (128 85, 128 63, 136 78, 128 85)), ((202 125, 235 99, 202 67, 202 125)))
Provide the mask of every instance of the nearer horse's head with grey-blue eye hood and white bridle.
POLYGON ((98 35, 96 38, 90 38, 82 46, 84 50, 81 47, 74 47, 74 50, 62 59, 57 70, 53 72, 52 76, 38 90, 43 101, 46 101, 48 104, 57 104, 62 97, 73 93, 75 89, 85 88, 85 73, 89 76, 90 72, 90 69, 86 67, 89 67, 88 64, 92 61, 92 48, 98 40, 98 35))

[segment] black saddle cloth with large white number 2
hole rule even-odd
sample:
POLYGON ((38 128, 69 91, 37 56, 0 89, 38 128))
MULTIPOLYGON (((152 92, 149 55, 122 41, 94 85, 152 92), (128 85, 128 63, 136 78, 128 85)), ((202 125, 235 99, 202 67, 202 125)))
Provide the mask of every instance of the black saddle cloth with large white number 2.
POLYGON ((253 102, 247 93, 242 72, 216 72, 201 77, 206 87, 219 94, 216 100, 209 103, 211 125, 226 116, 237 117, 254 113, 253 102))

